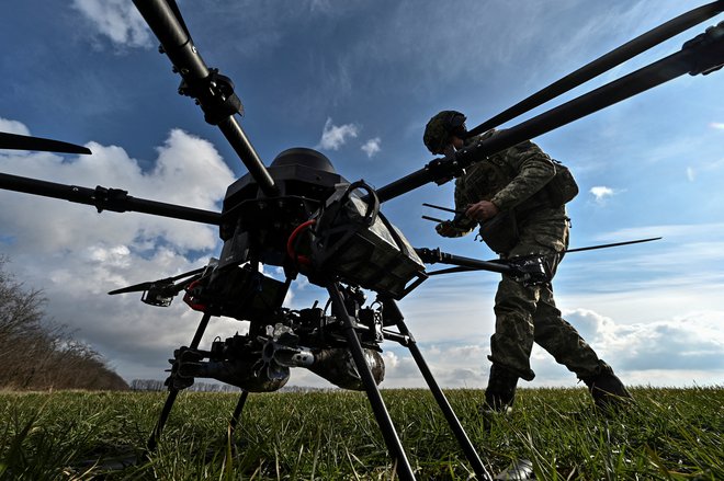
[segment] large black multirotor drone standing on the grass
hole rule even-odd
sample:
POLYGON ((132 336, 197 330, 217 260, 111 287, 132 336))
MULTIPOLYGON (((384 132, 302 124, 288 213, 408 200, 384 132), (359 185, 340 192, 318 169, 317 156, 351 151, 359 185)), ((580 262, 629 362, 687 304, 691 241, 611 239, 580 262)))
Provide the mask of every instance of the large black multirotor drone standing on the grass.
MULTIPOLYGON (((136 198, 121 188, 89 188, 4 173, 0 173, 0 188, 87 204, 99 213, 137 211, 218 227, 223 241, 218 259, 188 273, 109 293, 142 293, 142 301, 155 307, 168 307, 181 296, 190 309, 201 313, 190 344, 176 350, 170 359, 166 380, 169 394, 149 436, 148 450, 156 449, 178 393, 195 379, 215 379, 241 389, 230 419, 234 430, 249 393, 276 391, 289 381, 293 368, 305 368, 337 387, 366 393, 398 477, 415 479, 378 390, 385 374, 381 345, 395 342, 410 351, 473 471, 480 479, 491 479, 426 364, 397 301, 430 275, 442 272, 428 272, 427 264, 454 266, 443 270, 448 272, 507 273, 522 283, 535 284, 551 278, 545 260, 482 261, 437 248, 415 248, 384 216, 382 205, 422 185, 444 184, 486 156, 685 73, 709 75, 722 68, 724 22, 690 39, 669 57, 373 188, 364 181, 348 181, 326 156, 309 148, 284 150, 267 167, 237 122, 244 106, 234 82, 206 66, 174 0, 134 3, 160 42, 160 51, 181 77, 179 93, 195 101, 205 121, 218 127, 248 170, 228 186, 222 211, 136 198), (263 266, 281 268, 284 279, 265 275, 263 266), (327 306, 282 306, 299 276, 326 289, 327 306), (370 294, 374 295, 372 301, 367 301, 370 294), (210 320, 222 316, 249 321, 249 331, 217 339, 202 348, 210 320)), ((724 1, 715 1, 685 13, 480 124, 471 135, 529 112, 722 11, 724 1)), ((13 134, 0 134, 0 148, 90 153, 72 144, 13 134)))

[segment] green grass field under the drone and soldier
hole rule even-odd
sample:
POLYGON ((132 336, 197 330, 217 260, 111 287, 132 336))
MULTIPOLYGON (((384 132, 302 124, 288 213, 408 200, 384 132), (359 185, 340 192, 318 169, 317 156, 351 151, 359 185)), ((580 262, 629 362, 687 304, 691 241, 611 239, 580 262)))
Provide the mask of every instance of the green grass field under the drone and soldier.
MULTIPOLYGON (((540 480, 724 480, 724 388, 634 388, 616 419, 577 389, 523 389, 516 411, 477 415, 478 390, 445 391, 483 462, 496 473, 530 459, 540 480)), ((383 390, 420 480, 471 469, 426 390, 383 390)), ((0 479, 395 479, 364 393, 182 393, 158 449, 143 456, 165 393, 0 393, 0 479), (116 456, 139 459, 106 472, 116 456), (94 460, 101 463, 93 466, 94 460), (91 461, 91 462, 88 462, 91 461)))

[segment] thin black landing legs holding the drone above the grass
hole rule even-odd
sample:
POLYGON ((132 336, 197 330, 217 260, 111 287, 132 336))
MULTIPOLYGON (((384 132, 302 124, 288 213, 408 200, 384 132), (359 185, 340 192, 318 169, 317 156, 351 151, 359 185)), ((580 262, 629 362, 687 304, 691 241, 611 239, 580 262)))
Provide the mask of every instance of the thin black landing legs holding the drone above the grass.
MULTIPOLYGON (((365 360, 364 348, 362 347, 362 344, 360 342, 358 331, 369 328, 359 324, 354 316, 352 316, 349 312, 346 306, 344 297, 340 291, 340 286, 338 283, 329 284, 327 286, 327 290, 331 299, 332 312, 342 327, 342 333, 347 341, 347 347, 349 348, 352 358, 354 360, 354 366, 357 367, 357 371, 362 380, 364 391, 367 396, 367 399, 370 400, 370 404, 372 406, 375 421, 380 426, 383 438, 385 440, 385 445, 387 446, 387 450, 393 457, 397 476, 400 480, 415 480, 415 473, 412 467, 410 466, 407 459, 407 455, 405 454, 403 444, 399 439, 399 436, 397 435, 397 431, 389 416, 385 402, 382 399, 382 394, 377 389, 377 382, 375 381, 375 377, 372 373, 372 369, 370 368, 367 362, 365 360)), ((397 308, 397 305, 392 299, 384 299, 383 305, 385 312, 385 325, 395 325, 397 328, 397 332, 391 331, 388 329, 383 329, 382 334, 384 339, 389 341, 395 341, 410 351, 410 354, 412 355, 415 363, 420 369, 420 373, 422 374, 422 377, 425 378, 428 388, 430 389, 433 398, 435 399, 438 405, 440 406, 440 410, 442 411, 443 415, 445 416, 445 420, 451 431, 455 435, 457 443, 461 446, 473 471, 480 480, 491 480, 493 478, 485 469, 483 462, 480 461, 480 458, 477 455, 477 451, 473 447, 473 444, 471 443, 470 438, 467 437, 467 434, 465 433, 463 426, 457 420, 457 416, 455 415, 452 406, 448 402, 444 393, 442 392, 442 389, 435 381, 430 368, 425 362, 422 354, 418 348, 415 339, 412 337, 412 334, 409 332, 407 325, 404 322, 403 314, 397 308)), ((211 319, 211 314, 204 313, 204 317, 202 318, 199 328, 196 329, 196 333, 194 334, 193 341, 191 342, 190 345, 191 350, 196 350, 199 347, 199 344, 201 343, 201 339, 203 336, 204 331, 206 330, 210 319, 211 319)), ((173 403, 176 402, 177 396, 181 389, 182 388, 178 386, 173 386, 173 382, 171 382, 171 385, 169 386, 169 394, 166 399, 166 403, 163 405, 163 409, 161 410, 161 413, 156 423, 154 432, 151 433, 148 439, 148 444, 147 444, 148 451, 152 451, 156 449, 158 445, 158 440, 161 436, 161 432, 163 431, 163 426, 168 420, 173 403)), ((241 394, 234 410, 231 419, 229 420, 229 427, 231 430, 231 433, 234 433, 234 431, 236 430, 239 423, 239 420, 241 417, 241 411, 244 410, 244 405, 246 404, 248 394, 249 391, 247 390, 241 391, 241 394)))

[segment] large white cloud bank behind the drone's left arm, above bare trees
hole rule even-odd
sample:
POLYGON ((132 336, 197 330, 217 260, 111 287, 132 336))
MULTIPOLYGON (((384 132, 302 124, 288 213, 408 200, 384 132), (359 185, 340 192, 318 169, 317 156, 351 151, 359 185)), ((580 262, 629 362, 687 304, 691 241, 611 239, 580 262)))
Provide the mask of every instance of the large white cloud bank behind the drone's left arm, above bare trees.
MULTIPOLYGON (((0 171, 91 188, 100 184, 214 211, 234 181, 210 142, 182 130, 169 134, 147 172, 118 147, 89 147, 92 156, 0 153, 0 171)), ((125 366, 122 375, 162 378, 166 358, 189 343, 200 314, 180 299, 170 308, 151 308, 138 301, 139 294, 105 293, 203 266, 218 253, 218 229, 139 213, 99 215, 92 206, 8 191, 0 191, 0 204, 12 207, 0 209, 0 248, 9 268, 44 290, 48 314, 113 365, 125 366)), ((210 332, 225 322, 215 320, 210 332)))

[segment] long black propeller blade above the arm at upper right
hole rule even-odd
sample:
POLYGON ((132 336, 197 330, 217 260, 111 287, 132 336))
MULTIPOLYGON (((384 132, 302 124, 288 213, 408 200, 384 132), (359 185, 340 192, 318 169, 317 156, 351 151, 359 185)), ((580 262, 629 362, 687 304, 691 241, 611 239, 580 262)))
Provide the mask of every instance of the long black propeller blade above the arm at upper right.
POLYGON ((648 50, 661 42, 665 42, 675 35, 680 34, 687 28, 690 28, 701 22, 711 19, 712 16, 715 16, 722 11, 724 11, 724 2, 720 0, 683 13, 676 19, 672 19, 657 26, 656 28, 653 28, 643 35, 637 36, 633 41, 623 44, 622 46, 609 51, 608 54, 602 55, 596 60, 562 78, 561 80, 551 83, 548 87, 541 89, 540 91, 530 95, 528 99, 520 101, 510 108, 468 130, 467 136, 473 137, 478 134, 483 134, 484 131, 497 127, 510 121, 511 118, 516 118, 519 115, 522 115, 525 112, 529 112, 539 105, 555 99, 562 93, 573 90, 584 82, 600 76, 613 67, 616 67, 624 61, 632 59, 636 55, 648 50))

